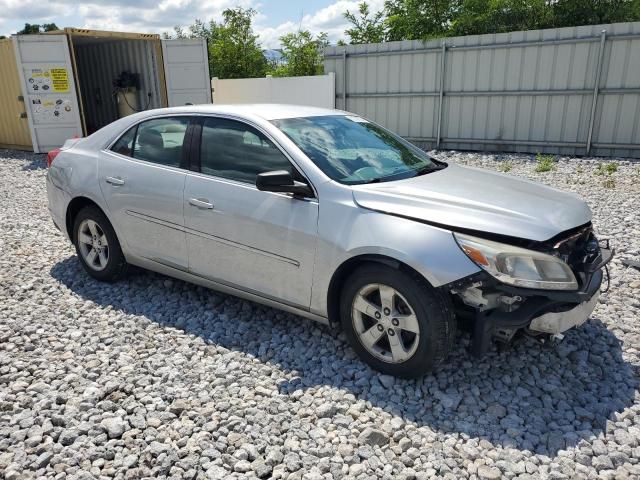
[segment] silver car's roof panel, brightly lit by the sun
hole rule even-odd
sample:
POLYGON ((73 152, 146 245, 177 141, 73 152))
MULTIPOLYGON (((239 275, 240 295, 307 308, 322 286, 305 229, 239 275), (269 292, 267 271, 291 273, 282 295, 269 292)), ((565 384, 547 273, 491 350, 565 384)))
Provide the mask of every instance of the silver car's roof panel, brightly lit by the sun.
MULTIPOLYGON (((348 115, 348 112, 330 108, 310 107, 306 105, 288 105, 284 103, 243 103, 233 105, 203 104, 187 105, 184 107, 163 108, 166 113, 226 113, 244 117, 260 117, 264 120, 278 120, 283 118, 318 117, 324 115, 348 115)), ((159 110, 154 112, 159 113, 159 110)))

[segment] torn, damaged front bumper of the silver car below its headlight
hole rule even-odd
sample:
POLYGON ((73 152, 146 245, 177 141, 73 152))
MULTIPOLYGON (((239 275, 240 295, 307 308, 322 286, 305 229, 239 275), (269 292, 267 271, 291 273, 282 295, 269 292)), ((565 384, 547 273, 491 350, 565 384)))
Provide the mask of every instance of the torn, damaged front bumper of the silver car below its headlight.
POLYGON ((576 291, 514 287, 486 272, 456 282, 450 290, 461 300, 462 310, 474 316, 472 353, 482 356, 492 338, 509 341, 520 329, 533 335, 556 335, 583 324, 598 302, 603 269, 613 254, 613 249, 602 248, 597 261, 585 265, 576 291))

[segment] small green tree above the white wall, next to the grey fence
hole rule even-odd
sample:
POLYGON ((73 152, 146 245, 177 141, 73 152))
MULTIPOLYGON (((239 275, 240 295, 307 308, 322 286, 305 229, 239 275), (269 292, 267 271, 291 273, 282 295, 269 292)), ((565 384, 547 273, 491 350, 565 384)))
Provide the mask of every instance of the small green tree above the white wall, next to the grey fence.
POLYGON ((329 44, 326 33, 320 33, 314 38, 311 32, 304 30, 288 33, 280 37, 280 41, 284 64, 274 68, 270 72, 272 75, 297 77, 322 74, 323 49, 329 44))

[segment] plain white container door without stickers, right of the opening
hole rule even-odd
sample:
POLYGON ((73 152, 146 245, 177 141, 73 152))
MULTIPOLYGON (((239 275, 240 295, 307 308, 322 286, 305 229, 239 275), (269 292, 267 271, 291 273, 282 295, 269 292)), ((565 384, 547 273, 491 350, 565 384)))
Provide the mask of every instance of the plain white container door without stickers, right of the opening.
POLYGON ((162 40, 170 107, 211 103, 209 56, 204 38, 162 40))

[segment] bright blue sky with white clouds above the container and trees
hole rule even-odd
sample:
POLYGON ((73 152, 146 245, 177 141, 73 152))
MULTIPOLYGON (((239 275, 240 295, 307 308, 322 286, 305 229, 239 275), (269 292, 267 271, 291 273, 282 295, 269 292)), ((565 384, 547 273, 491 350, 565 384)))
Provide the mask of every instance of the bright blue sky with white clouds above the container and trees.
MULTIPOLYGON (((173 32, 196 18, 221 20, 222 11, 254 8, 254 33, 263 48, 278 48, 279 38, 299 28, 327 32, 332 43, 344 39, 346 10, 357 11, 361 0, 0 0, 0 35, 11 35, 25 23, 137 33, 173 32)), ((370 0, 372 10, 384 0, 370 0)))

